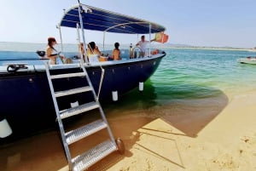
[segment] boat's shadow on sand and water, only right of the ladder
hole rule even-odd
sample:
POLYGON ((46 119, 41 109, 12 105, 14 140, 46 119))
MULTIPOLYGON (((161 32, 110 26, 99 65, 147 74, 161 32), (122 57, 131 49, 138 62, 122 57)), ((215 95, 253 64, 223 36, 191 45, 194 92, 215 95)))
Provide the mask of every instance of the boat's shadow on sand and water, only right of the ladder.
MULTIPOLYGON (((143 93, 134 90, 116 102, 114 110, 111 107, 112 111, 108 111, 107 108, 114 136, 125 142, 125 155, 113 153, 89 170, 112 168, 125 157, 137 156, 134 151, 143 151, 178 168, 185 168, 175 136, 197 137, 226 105, 228 97, 216 88, 188 84, 158 88, 146 83, 143 93), (154 146, 158 140, 163 145, 173 145, 177 149, 176 152, 169 152, 172 157, 168 157, 158 145, 154 146)), ((124 170, 131 168, 129 163, 125 167, 124 170)))

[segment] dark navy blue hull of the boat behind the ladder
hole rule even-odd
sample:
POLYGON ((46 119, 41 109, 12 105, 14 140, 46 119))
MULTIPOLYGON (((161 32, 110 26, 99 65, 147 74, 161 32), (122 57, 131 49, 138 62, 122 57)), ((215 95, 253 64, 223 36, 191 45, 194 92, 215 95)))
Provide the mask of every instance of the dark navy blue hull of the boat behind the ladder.
MULTIPOLYGON (((118 91, 121 96, 137 88, 139 82, 145 82, 154 73, 165 55, 163 53, 157 58, 103 66, 105 74, 100 101, 103 103, 112 100, 112 91, 118 91)), ((86 70, 97 94, 102 70, 99 66, 89 66, 86 70)), ((55 72, 61 73, 65 70, 55 70, 55 72)), ((86 83, 85 77, 57 79, 55 90, 81 87, 84 83, 86 83)), ((13 134, 9 137, 0 138, 0 144, 56 127, 55 108, 45 71, 2 73, 0 89, 0 121, 6 118, 13 130, 13 134)), ((92 98, 91 94, 76 94, 62 98, 59 106, 67 109, 70 103, 76 100, 79 100, 79 104, 83 104, 92 101, 92 98)))

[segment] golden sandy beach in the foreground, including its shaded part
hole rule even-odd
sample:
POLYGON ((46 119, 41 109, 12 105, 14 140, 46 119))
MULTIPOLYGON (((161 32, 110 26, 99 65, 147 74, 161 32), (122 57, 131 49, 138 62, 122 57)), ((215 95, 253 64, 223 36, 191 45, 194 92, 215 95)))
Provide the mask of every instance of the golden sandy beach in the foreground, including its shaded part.
MULTIPOLYGON (((125 142, 125 154, 113 153, 88 170, 256 170, 256 93, 233 96, 220 110, 207 110, 209 115, 201 115, 195 107, 186 112, 177 109, 183 115, 168 115, 165 112, 176 111, 159 106, 154 110, 164 114, 146 117, 141 111, 138 117, 109 118, 114 136, 125 142)), ((76 153, 106 136, 102 131, 72 150, 76 153)), ((57 132, 49 132, 0 149, 0 166, 1 170, 62 171, 67 170, 67 161, 57 132)))

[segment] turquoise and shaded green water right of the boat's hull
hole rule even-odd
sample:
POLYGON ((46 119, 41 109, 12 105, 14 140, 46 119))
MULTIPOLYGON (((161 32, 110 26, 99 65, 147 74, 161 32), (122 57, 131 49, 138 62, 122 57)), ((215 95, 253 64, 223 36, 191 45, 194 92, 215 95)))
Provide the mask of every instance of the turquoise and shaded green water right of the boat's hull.
POLYGON ((143 93, 135 89, 122 97, 118 105, 107 105, 111 116, 125 113, 130 117, 211 117, 224 110, 236 95, 256 91, 256 66, 237 62, 256 56, 255 52, 166 49, 166 54, 145 83, 143 93))

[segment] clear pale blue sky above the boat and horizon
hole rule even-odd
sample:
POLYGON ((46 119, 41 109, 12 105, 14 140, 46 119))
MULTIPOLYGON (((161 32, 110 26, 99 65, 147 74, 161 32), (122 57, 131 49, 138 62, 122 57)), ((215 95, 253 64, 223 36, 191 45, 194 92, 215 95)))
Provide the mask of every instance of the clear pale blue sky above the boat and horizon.
MULTIPOLYGON (((62 9, 76 0, 1 0, 0 42, 46 43, 59 40, 55 26, 62 9)), ((81 0, 91 6, 150 20, 166 26, 169 43, 195 46, 256 47, 256 0, 81 0)), ((87 40, 102 43, 101 32, 87 32, 87 40)), ((107 35, 113 43, 130 37, 107 35)), ((64 43, 76 43, 76 32, 63 29, 64 43)), ((137 40, 137 37, 136 37, 137 40)))

